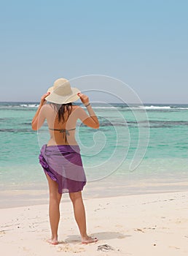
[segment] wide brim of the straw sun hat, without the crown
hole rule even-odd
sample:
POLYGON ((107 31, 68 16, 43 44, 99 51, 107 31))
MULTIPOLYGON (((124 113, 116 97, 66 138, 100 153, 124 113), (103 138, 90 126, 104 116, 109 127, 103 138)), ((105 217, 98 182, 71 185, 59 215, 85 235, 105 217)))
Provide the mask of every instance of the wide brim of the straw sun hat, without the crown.
POLYGON ((67 104, 71 102, 76 102, 79 99, 79 96, 77 94, 80 92, 80 90, 71 87, 71 91, 71 94, 68 94, 67 96, 63 97, 56 94, 55 91, 53 91, 53 87, 50 87, 47 90, 47 92, 50 92, 50 95, 47 96, 45 99, 47 100, 47 102, 52 102, 56 104, 67 104))

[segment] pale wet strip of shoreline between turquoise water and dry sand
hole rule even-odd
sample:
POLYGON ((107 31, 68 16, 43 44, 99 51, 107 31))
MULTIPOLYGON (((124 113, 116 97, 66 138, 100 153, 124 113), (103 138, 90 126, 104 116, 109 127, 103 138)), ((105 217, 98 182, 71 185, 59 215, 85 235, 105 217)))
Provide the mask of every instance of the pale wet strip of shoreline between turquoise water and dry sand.
MULTIPOLYGON (((127 180, 122 183, 114 184, 112 180, 88 182, 82 191, 84 200, 93 200, 97 198, 121 197, 129 195, 153 195, 168 192, 186 192, 188 191, 188 181, 152 181, 152 180, 127 180), (104 189, 105 188, 105 189, 104 189)), ((19 189, 0 189, 0 209, 15 208, 21 206, 38 206, 48 203, 48 187, 44 182, 42 186, 39 184, 35 187, 23 187, 19 189)), ((63 194, 63 202, 69 201, 68 193, 63 194)))

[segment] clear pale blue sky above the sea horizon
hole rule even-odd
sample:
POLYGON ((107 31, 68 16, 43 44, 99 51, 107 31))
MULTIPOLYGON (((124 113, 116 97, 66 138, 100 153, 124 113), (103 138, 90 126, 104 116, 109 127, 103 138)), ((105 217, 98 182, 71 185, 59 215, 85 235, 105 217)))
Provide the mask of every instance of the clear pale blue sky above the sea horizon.
POLYGON ((0 1, 0 101, 36 102, 57 78, 82 90, 76 78, 101 75, 114 80, 102 91, 126 94, 121 80, 144 103, 186 104, 187 10, 187 0, 0 1))

